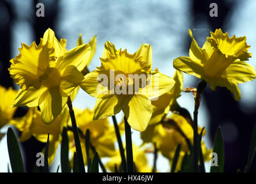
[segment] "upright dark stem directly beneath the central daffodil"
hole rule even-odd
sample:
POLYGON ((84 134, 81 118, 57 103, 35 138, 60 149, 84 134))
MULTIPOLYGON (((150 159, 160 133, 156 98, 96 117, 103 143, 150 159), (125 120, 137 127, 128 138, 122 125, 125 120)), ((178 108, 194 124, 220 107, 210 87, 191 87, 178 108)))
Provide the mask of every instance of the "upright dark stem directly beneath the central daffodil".
POLYGON ((127 156, 127 172, 134 173, 133 167, 133 155, 132 155, 132 132, 131 126, 127 122, 127 118, 124 116, 125 127, 125 143, 126 143, 126 156, 127 156))

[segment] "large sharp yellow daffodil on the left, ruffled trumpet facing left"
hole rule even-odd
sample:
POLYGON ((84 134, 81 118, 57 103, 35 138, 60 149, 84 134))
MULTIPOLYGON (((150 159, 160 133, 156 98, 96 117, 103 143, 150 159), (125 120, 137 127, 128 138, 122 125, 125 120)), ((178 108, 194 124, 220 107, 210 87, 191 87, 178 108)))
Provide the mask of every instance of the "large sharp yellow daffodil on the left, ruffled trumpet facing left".
POLYGON ((83 44, 65 52, 65 40, 60 43, 51 29, 39 45, 21 46, 20 54, 10 60, 10 75, 20 85, 13 106, 39 106, 43 122, 51 124, 83 81, 80 71, 88 63, 91 47, 83 44))

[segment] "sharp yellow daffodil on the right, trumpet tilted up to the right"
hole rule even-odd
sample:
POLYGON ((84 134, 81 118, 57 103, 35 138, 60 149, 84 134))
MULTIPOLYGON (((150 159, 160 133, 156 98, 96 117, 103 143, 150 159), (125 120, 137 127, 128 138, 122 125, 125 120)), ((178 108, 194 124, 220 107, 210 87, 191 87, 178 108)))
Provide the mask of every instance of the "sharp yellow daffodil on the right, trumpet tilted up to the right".
POLYGON ((234 35, 230 38, 228 33, 216 29, 200 48, 190 29, 188 33, 192 38, 190 56, 176 58, 173 66, 206 81, 212 90, 216 90, 217 86, 227 87, 238 101, 241 98, 238 84, 252 81, 256 77, 254 67, 244 62, 251 57, 246 37, 234 35))

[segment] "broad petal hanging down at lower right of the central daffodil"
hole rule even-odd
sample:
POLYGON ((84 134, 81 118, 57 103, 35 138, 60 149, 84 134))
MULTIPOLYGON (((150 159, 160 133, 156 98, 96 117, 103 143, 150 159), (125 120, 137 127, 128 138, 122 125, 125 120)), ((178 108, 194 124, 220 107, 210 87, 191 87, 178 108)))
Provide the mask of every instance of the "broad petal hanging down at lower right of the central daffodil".
POLYGON ((152 116, 151 101, 144 95, 132 95, 125 98, 123 112, 129 125, 136 131, 143 132, 152 116))

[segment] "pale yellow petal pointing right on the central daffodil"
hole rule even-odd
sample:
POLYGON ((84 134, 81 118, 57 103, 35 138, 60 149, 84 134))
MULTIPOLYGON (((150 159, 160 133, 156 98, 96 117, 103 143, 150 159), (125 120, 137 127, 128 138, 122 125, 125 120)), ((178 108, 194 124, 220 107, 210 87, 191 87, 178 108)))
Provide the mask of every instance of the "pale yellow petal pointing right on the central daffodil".
POLYGON ((166 76, 161 72, 153 72, 150 78, 150 83, 148 83, 146 89, 142 89, 141 94, 146 95, 151 100, 156 100, 155 98, 170 91, 174 85, 175 81, 169 76, 166 76))

